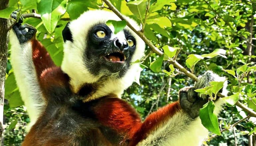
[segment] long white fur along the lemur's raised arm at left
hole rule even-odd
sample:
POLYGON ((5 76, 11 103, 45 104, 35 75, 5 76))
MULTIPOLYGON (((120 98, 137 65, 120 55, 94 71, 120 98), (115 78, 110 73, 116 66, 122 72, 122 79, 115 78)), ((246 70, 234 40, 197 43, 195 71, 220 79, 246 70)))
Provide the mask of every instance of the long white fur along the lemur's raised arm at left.
POLYGON ((11 43, 11 64, 19 87, 22 100, 27 107, 30 117, 30 128, 38 118, 43 109, 44 101, 37 81, 35 66, 32 60, 31 42, 20 45, 19 40, 13 30, 10 31, 11 43))

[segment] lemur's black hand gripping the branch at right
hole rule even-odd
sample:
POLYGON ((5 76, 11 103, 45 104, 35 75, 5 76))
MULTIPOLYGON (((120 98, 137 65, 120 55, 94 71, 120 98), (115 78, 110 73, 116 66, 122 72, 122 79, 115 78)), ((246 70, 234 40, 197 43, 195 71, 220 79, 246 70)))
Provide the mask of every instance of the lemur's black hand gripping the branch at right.
POLYGON ((194 90, 194 87, 185 87, 179 92, 181 108, 192 118, 199 116, 199 109, 208 102, 207 98, 200 98, 194 90))

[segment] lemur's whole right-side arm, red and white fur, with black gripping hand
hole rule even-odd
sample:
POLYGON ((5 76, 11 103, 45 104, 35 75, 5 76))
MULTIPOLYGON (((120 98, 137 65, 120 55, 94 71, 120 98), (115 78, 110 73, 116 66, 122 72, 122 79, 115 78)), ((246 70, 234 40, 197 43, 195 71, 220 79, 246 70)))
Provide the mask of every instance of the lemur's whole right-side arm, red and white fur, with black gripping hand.
MULTIPOLYGON (((129 146, 200 146, 208 131, 198 117, 199 109, 207 102, 195 94, 194 89, 180 90, 180 100, 151 113, 144 122, 126 102, 118 98, 105 98, 94 107, 98 121, 125 133, 129 146)), ((215 102, 219 112, 222 102, 215 102)))

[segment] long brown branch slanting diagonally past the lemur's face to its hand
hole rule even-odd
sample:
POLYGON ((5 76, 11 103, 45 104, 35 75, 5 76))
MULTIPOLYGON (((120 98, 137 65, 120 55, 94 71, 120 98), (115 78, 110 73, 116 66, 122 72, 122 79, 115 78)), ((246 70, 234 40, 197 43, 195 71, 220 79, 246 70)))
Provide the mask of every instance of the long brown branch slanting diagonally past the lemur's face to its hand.
MULTIPOLYGON (((114 5, 112 5, 112 3, 109 0, 102 0, 105 2, 105 4, 108 6, 108 9, 110 9, 111 11, 113 11, 121 20, 125 20, 127 26, 134 31, 150 48, 151 50, 158 54, 158 55, 163 55, 164 53, 162 51, 160 51, 156 46, 154 46, 154 44, 141 32, 141 31, 137 31, 132 25, 131 23, 126 19, 126 17, 124 17, 116 8, 114 5)), ((207 3, 208 4, 208 3, 207 3)), ((188 71, 186 68, 184 68, 181 64, 179 64, 176 60, 174 59, 169 59, 168 60, 169 63, 173 64, 174 67, 178 68, 179 71, 185 73, 188 77, 190 77, 191 79, 193 79, 194 81, 198 81, 198 78, 192 74, 190 71, 188 71)), ((224 97, 223 95, 221 95, 220 93, 217 94, 217 96, 219 97, 224 97)), ((241 109, 243 109, 244 111, 248 112, 248 114, 250 114, 251 116, 256 117, 256 112, 253 111, 252 109, 246 107, 245 105, 243 105, 242 103, 240 103, 239 101, 237 101, 237 103, 235 104, 236 106, 240 107, 241 109)))

